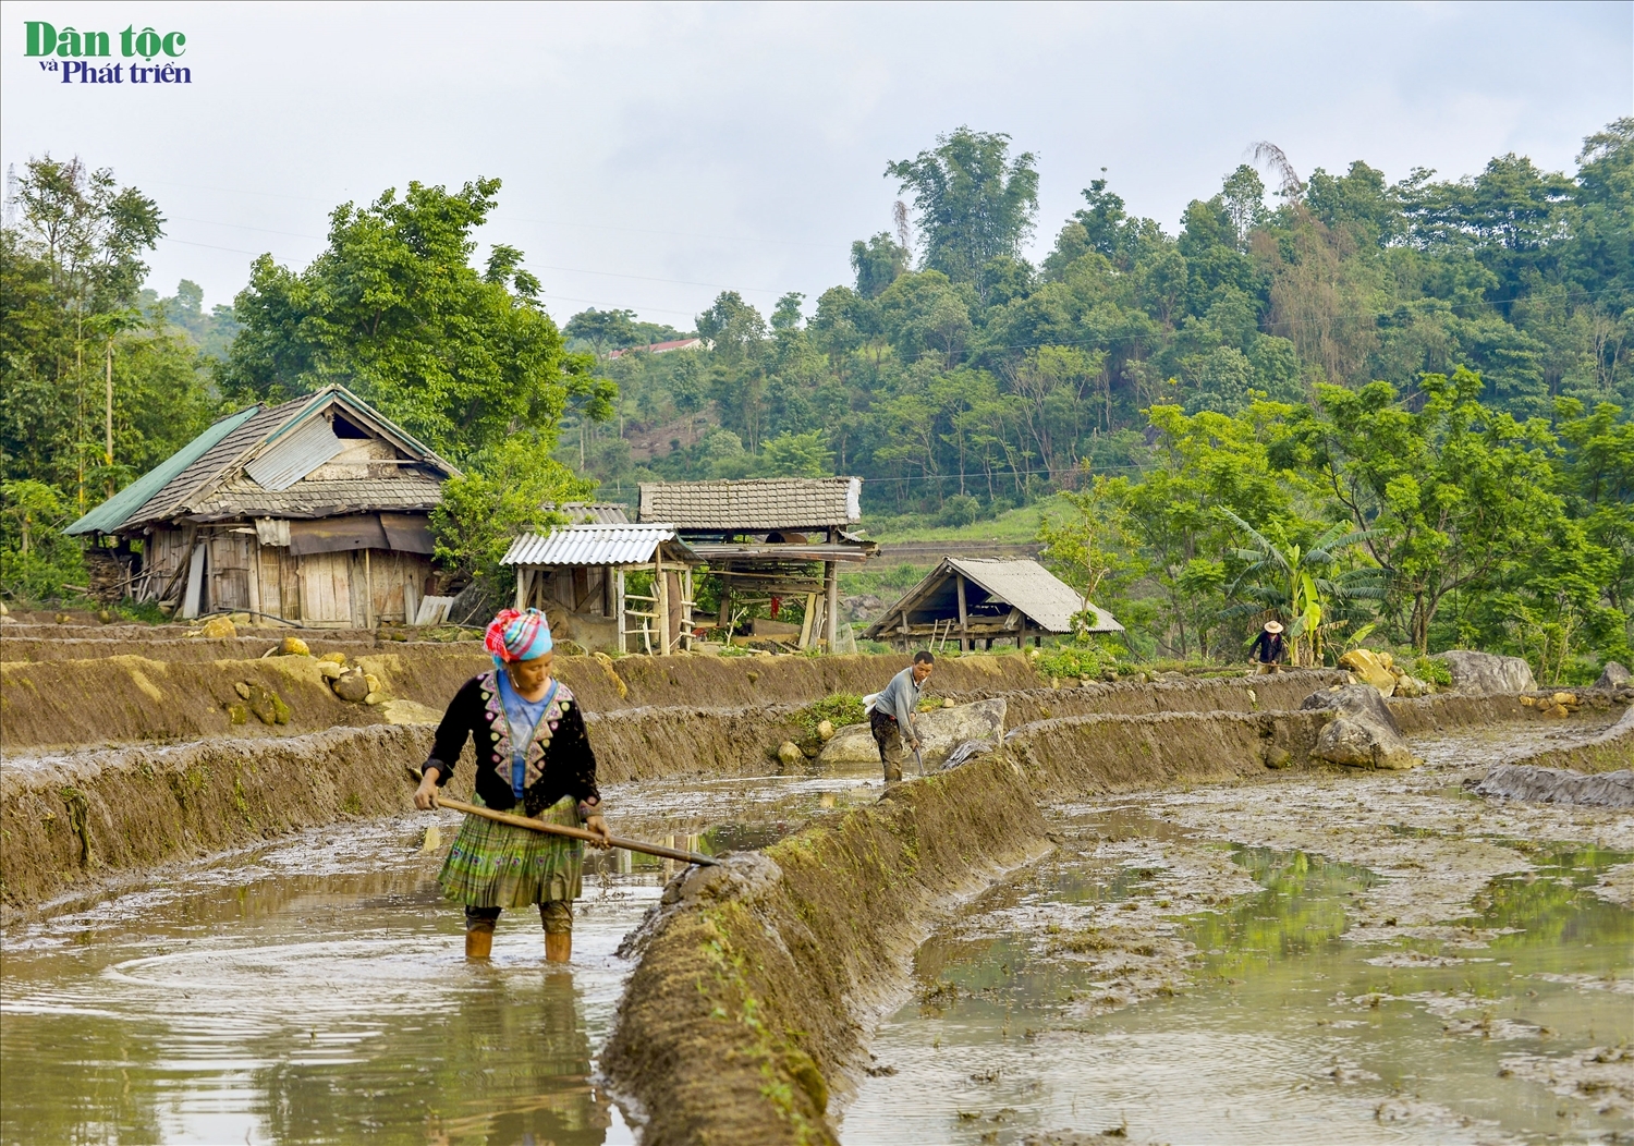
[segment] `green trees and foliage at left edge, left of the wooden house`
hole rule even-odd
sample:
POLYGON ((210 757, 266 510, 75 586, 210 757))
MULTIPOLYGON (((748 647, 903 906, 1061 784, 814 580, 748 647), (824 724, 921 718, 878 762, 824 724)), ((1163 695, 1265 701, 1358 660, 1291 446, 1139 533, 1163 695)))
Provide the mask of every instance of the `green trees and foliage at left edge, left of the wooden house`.
POLYGON ((78 159, 31 160, 0 231, 0 587, 83 584, 60 528, 214 414, 198 343, 144 302, 158 206, 78 159))

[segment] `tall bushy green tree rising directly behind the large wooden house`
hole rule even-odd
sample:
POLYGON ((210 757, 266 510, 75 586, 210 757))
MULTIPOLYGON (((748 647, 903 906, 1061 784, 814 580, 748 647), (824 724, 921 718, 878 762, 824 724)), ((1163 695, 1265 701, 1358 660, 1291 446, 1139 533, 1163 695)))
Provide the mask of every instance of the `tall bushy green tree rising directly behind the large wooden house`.
POLYGON ((222 389, 278 402, 340 383, 459 461, 518 433, 552 440, 570 404, 609 417, 616 387, 565 351, 521 253, 495 247, 485 273, 471 265, 498 190, 410 183, 335 208, 328 248, 304 271, 257 258, 222 389))

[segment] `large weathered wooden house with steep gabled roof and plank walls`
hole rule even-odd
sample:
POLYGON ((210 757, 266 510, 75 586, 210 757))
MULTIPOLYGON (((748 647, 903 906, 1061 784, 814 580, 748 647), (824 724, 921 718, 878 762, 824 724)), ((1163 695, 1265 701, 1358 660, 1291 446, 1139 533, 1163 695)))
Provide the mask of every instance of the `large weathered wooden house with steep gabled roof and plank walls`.
POLYGON ((314 628, 412 623, 451 464, 342 386, 216 422, 69 526, 137 600, 314 628))

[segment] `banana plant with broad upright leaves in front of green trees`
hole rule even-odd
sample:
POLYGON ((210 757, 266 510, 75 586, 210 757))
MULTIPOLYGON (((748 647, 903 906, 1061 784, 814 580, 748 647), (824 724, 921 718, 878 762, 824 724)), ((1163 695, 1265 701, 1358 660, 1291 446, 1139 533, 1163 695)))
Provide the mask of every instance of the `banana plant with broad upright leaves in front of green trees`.
POLYGON ((1309 548, 1278 544, 1229 508, 1219 515, 1248 536, 1247 548, 1227 553, 1242 562, 1242 572, 1226 590, 1242 603, 1226 610, 1226 616, 1258 616, 1278 620, 1288 634, 1289 660, 1296 665, 1322 664, 1324 631, 1338 621, 1325 620, 1332 608, 1353 607, 1361 600, 1384 597, 1384 571, 1371 567, 1328 571, 1345 549, 1373 538, 1371 530, 1353 530, 1348 523, 1328 528, 1309 548))

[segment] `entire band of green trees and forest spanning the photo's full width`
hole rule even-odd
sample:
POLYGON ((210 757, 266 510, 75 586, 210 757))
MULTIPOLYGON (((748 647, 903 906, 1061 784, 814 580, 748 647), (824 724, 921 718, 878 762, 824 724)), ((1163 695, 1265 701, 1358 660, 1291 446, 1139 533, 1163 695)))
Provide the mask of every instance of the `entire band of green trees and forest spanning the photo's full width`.
POLYGON ((1276 615, 1307 659, 1629 659, 1634 119, 1570 175, 1253 160, 1178 234, 1096 180, 1031 265, 1036 159, 961 128, 886 163, 902 203, 853 281, 560 334, 523 252, 474 263, 497 180, 343 204, 310 266, 263 257, 204 314, 191 283, 144 289, 157 203, 33 162, 3 239, 3 592, 60 593, 60 525, 211 417, 342 381, 466 468, 440 523, 464 572, 585 479, 632 500, 838 472, 892 536, 1049 502, 1051 564, 1142 654, 1235 659, 1276 615), (686 335, 704 348, 631 351, 686 335))

